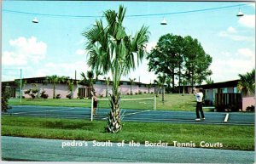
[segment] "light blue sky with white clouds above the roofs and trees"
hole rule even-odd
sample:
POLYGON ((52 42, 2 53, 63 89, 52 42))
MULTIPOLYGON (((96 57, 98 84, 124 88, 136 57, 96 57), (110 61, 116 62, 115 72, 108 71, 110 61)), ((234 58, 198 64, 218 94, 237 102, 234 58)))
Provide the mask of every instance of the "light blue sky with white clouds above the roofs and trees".
MULTIPOLYGON (((75 71, 80 78, 82 71, 90 70, 84 52, 86 40, 81 33, 89 30, 103 11, 118 9, 119 4, 127 8, 124 25, 128 33, 134 34, 142 25, 148 25, 151 33, 148 51, 167 33, 197 38, 212 56, 214 82, 238 79, 238 74, 255 67, 255 3, 4 1, 3 81, 19 78, 19 69, 25 78, 55 74, 74 78, 75 71), (207 8, 217 9, 181 13, 207 8), (245 14, 243 17, 236 17, 239 8, 245 14), (38 24, 32 23, 35 17, 38 24), (168 24, 160 25, 164 17, 168 24)), ((147 70, 144 59, 136 71, 122 79, 132 77, 153 82, 156 76, 147 70)))

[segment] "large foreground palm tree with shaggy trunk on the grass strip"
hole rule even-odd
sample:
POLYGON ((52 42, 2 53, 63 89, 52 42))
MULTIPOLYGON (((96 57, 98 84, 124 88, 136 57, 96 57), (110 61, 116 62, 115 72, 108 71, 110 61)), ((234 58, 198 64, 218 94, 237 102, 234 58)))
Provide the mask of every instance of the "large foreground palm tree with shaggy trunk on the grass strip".
POLYGON ((102 20, 96 20, 96 26, 83 33, 88 40, 86 46, 90 54, 88 65, 93 70, 102 71, 104 75, 108 72, 112 75, 113 92, 109 98, 111 111, 106 127, 108 133, 117 133, 122 128, 119 111, 120 77, 126 76, 131 69, 135 70, 136 64, 138 65, 146 54, 148 42, 148 27, 143 26, 135 36, 126 34, 123 26, 125 12, 126 8, 123 6, 119 6, 118 13, 109 9, 103 14, 106 26, 103 26, 102 20))

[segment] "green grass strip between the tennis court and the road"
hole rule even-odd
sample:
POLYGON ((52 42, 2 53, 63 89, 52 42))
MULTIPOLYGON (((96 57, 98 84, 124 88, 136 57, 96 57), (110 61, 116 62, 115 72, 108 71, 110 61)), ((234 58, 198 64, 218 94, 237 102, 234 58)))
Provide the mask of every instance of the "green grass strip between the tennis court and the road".
POLYGON ((253 126, 218 126, 171 123, 124 122, 121 133, 104 133, 107 122, 85 120, 39 118, 25 116, 2 116, 2 135, 40 139, 75 139, 128 143, 131 140, 144 143, 162 142, 173 145, 201 141, 222 143, 230 150, 254 150, 253 126))

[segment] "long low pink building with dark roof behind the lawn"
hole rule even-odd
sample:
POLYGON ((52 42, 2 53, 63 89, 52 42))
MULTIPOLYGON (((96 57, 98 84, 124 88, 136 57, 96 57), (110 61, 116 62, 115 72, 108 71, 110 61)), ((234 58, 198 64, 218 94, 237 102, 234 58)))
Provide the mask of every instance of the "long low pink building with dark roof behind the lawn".
MULTIPOLYGON (((73 79, 70 79, 73 80, 73 79)), ((16 82, 19 82, 20 79, 16 79, 16 82)), ((18 98, 20 97, 20 86, 17 85, 15 81, 10 82, 2 82, 5 86, 8 86, 9 93, 11 93, 11 97, 18 98)), ((22 82, 25 84, 22 87, 22 95, 25 98, 30 98, 31 96, 26 94, 25 92, 32 88, 38 88, 39 93, 45 91, 45 94, 49 95, 49 99, 53 98, 53 83, 49 83, 46 81, 46 76, 44 77, 33 77, 33 78, 24 78, 22 82)), ((112 81, 109 82, 108 93, 112 93, 112 81)), ((152 84, 151 88, 148 88, 147 84, 142 82, 134 82, 131 86, 131 82, 120 81, 120 92, 122 94, 133 94, 137 93, 154 93, 156 86, 152 84)), ((105 97, 107 93, 107 85, 105 80, 98 80, 94 82, 93 88, 96 91, 96 95, 105 97)), ((90 97, 91 88, 88 85, 82 84, 79 80, 73 80, 73 92, 68 89, 67 82, 59 82, 55 84, 55 96, 59 94, 61 99, 67 99, 67 95, 73 93, 73 99, 77 98, 87 98, 90 97)))

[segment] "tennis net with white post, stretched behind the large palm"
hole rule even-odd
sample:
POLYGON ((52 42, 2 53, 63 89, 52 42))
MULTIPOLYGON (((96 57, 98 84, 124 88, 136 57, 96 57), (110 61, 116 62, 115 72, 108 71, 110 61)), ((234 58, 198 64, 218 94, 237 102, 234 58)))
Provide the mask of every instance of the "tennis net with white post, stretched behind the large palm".
MULTIPOLYGON (((134 112, 134 110, 155 110, 156 109, 156 99, 155 97, 150 98, 137 98, 137 99, 122 99, 120 101, 120 113, 128 114, 129 112, 134 112)), ((93 99, 91 99, 91 115, 90 120, 93 121, 94 118, 106 118, 110 111, 109 99, 97 99, 96 116, 93 114, 93 99)))

